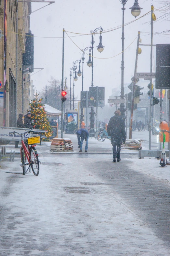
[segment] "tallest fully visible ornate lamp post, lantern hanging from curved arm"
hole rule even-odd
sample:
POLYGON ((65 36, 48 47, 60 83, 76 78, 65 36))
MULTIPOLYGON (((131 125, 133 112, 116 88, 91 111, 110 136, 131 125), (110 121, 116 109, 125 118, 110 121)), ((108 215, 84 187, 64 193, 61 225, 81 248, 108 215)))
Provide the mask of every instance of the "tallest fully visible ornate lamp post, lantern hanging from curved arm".
MULTIPOLYGON (((90 31, 91 33, 92 33, 92 41, 91 41, 91 43, 92 43, 92 87, 94 86, 93 85, 93 45, 94 45, 94 35, 95 35, 95 33, 97 33, 97 31, 99 31, 100 30, 100 37, 99 37, 99 45, 97 46, 97 50, 101 53, 101 52, 103 52, 103 50, 104 50, 104 46, 102 45, 102 31, 103 31, 103 28, 102 27, 97 27, 96 29, 94 29, 94 31, 90 31)), ((96 105, 96 113, 97 113, 97 105, 96 105)), ((94 109, 93 109, 93 107, 91 108, 91 111, 90 111, 90 128, 94 128, 94 109)), ((97 123, 97 122, 96 122, 97 123)))

